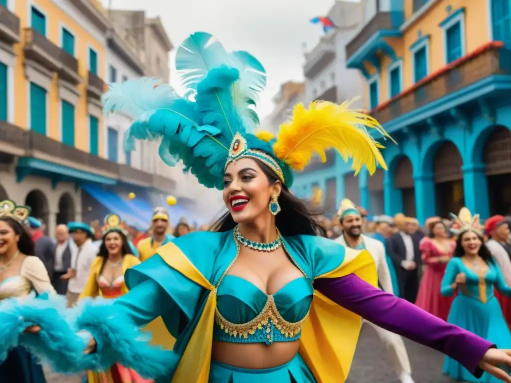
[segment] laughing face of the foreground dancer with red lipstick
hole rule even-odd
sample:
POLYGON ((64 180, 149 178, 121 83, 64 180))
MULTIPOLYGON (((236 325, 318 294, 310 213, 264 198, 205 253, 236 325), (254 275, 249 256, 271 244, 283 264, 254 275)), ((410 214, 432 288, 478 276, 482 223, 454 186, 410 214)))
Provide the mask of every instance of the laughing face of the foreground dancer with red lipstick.
POLYGON ((223 181, 223 201, 236 223, 250 223, 271 214, 270 200, 280 195, 282 188, 280 181, 270 184, 258 162, 251 158, 230 162, 223 181))

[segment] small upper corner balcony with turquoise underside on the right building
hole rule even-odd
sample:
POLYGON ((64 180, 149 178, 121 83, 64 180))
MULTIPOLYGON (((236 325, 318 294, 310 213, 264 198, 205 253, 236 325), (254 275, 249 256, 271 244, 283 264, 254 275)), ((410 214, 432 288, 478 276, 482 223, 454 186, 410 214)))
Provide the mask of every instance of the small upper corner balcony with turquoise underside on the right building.
MULTIPOLYGON (((391 59, 396 54, 385 38, 400 37, 399 31, 401 17, 399 12, 377 12, 362 30, 346 44, 346 66, 365 70, 364 61, 369 61, 379 69, 379 52, 383 52, 391 59)), ((365 74, 365 73, 364 73, 365 74)))

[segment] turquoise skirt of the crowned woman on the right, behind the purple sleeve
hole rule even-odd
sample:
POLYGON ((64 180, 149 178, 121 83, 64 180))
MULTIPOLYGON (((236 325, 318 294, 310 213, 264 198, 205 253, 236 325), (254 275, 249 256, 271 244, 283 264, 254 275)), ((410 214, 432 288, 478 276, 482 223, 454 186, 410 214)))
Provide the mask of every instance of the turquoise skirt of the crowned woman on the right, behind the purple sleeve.
MULTIPOLYGON (((482 303, 478 299, 458 294, 452 302, 447 322, 475 333, 497 345, 497 348, 511 348, 511 333, 502 315, 499 301, 495 297, 482 303)), ((466 382, 498 383, 501 381, 486 372, 476 379, 466 368, 448 356, 444 362, 444 373, 451 378, 466 382)))

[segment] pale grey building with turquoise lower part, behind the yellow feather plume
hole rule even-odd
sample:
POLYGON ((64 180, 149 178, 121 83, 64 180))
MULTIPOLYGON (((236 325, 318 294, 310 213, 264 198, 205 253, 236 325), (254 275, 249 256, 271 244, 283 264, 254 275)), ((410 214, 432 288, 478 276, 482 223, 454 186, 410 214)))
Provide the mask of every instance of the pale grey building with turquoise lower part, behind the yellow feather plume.
MULTIPOLYGON (((334 21, 336 29, 328 31, 305 54, 303 101, 306 104, 314 100, 340 103, 359 98, 353 107, 362 108, 362 76, 359 70, 346 67, 345 45, 361 28, 364 7, 360 3, 337 0, 327 16, 334 21)), ((345 182, 343 174, 347 172, 350 172, 350 164, 346 164, 336 152, 327 152, 325 162, 315 156, 303 172, 296 174, 293 192, 300 198, 311 198, 313 190, 319 188, 324 209, 333 212, 344 195, 344 184, 358 182, 354 177, 345 182)), ((358 201, 354 199, 354 202, 358 201)))

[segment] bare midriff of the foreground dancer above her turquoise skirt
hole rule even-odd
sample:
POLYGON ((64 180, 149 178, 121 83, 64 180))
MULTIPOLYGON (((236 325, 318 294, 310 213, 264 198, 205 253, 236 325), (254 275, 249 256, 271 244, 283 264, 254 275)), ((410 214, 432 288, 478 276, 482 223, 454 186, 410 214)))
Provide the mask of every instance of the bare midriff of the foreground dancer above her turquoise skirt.
POLYGON ((298 352, 298 341, 230 343, 213 341, 213 359, 217 362, 251 370, 262 370, 288 363, 298 352))

